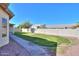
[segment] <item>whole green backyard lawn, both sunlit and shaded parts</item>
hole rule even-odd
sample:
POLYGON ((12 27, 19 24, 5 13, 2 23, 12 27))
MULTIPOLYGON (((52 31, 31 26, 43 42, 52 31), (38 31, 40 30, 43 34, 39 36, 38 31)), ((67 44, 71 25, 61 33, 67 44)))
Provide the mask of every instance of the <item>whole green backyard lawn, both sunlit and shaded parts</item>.
POLYGON ((45 34, 36 34, 36 33, 25 33, 25 32, 16 32, 16 36, 19 36, 25 40, 31 41, 40 46, 47 47, 56 47, 60 44, 71 44, 71 41, 65 37, 45 35, 45 34))

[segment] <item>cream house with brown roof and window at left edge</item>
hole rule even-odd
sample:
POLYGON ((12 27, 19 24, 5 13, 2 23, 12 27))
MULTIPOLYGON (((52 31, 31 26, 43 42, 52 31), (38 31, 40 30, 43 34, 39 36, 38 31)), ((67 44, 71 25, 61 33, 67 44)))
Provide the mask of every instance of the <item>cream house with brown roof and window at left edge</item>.
POLYGON ((9 20, 13 13, 8 6, 7 3, 0 3, 0 47, 9 43, 9 20))

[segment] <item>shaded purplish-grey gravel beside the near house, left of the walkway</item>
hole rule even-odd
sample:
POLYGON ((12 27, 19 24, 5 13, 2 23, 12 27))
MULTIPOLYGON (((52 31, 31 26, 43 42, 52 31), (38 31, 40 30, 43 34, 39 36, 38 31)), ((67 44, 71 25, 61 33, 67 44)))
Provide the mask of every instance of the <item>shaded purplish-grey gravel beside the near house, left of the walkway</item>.
POLYGON ((28 55, 30 55, 30 53, 13 40, 10 40, 9 44, 0 48, 0 56, 28 56, 28 55))

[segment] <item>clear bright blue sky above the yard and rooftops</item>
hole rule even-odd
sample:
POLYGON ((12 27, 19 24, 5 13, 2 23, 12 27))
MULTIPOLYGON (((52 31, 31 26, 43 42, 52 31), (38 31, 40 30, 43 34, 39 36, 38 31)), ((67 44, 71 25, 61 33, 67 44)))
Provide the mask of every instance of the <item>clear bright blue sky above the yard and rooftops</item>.
POLYGON ((14 13, 10 23, 18 26, 30 21, 32 24, 75 24, 79 22, 79 4, 75 3, 13 3, 9 9, 14 13))

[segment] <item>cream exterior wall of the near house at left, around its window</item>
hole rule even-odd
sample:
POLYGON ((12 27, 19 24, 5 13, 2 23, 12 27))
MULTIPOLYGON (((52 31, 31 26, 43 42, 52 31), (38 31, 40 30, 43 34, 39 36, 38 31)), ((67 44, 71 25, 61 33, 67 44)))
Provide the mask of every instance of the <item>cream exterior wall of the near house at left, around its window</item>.
POLYGON ((0 47, 9 43, 9 16, 0 8, 0 47), (7 19, 7 37, 2 38, 2 18, 7 19))

